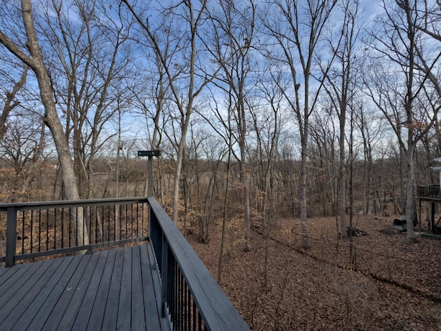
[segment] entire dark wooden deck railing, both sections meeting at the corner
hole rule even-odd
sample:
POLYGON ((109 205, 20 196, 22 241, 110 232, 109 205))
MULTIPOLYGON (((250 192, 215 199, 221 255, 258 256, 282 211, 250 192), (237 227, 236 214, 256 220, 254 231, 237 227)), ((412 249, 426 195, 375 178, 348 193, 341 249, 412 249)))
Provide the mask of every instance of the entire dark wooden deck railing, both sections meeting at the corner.
POLYGON ((150 240, 172 330, 249 330, 153 197, 0 204, 0 262, 150 240), (6 230, 5 230, 6 228, 6 230), (150 234, 150 235, 149 235, 150 234))

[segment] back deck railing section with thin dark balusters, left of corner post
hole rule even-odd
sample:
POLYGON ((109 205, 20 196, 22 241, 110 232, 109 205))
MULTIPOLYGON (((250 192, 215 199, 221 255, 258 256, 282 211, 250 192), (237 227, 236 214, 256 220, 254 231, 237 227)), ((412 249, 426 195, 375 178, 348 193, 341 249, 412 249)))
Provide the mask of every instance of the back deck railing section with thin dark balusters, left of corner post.
POLYGON ((147 213, 145 198, 0 204, 0 262, 145 241, 147 213))

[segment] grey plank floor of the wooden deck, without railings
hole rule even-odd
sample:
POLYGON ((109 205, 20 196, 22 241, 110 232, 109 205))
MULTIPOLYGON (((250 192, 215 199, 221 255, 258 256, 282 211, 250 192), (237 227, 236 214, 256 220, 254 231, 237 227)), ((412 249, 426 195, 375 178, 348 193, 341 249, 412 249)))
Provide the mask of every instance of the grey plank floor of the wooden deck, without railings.
POLYGON ((0 268, 0 330, 167 330, 150 243, 0 268))

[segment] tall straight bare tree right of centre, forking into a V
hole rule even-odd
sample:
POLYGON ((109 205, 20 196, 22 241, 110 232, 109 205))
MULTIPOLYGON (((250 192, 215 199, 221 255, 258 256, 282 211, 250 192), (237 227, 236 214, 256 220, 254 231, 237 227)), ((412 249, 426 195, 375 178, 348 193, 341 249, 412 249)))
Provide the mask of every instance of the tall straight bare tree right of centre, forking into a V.
MULTIPOLYGON (((290 90, 285 91, 285 99, 294 111, 300 131, 300 222, 302 228, 302 247, 309 248, 307 234, 307 159, 309 117, 314 111, 323 79, 313 92, 311 78, 314 70, 315 52, 325 34, 325 26, 337 1, 274 1, 274 15, 266 24, 276 40, 281 54, 277 60, 284 63, 292 80, 290 90), (294 52, 293 52, 294 50, 294 52), (300 70, 298 70, 300 66, 300 70)), ((268 54, 274 58, 274 54, 268 54)), ((327 64, 327 67, 329 63, 327 64)), ((325 70, 326 71, 326 70, 325 70)))

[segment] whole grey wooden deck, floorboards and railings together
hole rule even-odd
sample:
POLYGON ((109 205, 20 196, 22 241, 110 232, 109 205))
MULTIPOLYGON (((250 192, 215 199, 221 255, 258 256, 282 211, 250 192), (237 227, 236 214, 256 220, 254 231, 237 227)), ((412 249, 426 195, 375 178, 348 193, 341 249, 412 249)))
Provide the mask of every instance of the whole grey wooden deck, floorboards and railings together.
POLYGON ((249 330, 153 197, 10 203, 0 217, 0 330, 249 330))

